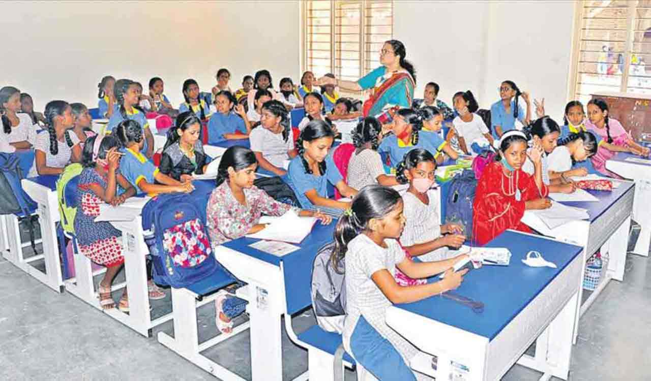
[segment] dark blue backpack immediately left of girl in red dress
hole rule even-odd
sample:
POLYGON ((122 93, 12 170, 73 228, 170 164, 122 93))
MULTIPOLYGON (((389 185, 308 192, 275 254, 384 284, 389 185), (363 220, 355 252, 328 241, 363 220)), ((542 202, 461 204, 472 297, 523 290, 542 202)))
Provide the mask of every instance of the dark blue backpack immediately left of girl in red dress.
POLYGON ((466 169, 450 180, 450 189, 445 200, 445 222, 460 224, 468 241, 473 238, 473 201, 477 191, 475 172, 466 169))

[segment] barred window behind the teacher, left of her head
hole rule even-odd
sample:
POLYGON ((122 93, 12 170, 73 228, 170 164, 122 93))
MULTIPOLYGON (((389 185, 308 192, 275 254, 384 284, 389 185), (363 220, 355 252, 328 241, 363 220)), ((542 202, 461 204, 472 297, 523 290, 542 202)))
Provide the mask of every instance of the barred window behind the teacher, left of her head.
POLYGON ((356 81, 380 66, 380 49, 393 36, 391 0, 303 2, 303 68, 356 81))

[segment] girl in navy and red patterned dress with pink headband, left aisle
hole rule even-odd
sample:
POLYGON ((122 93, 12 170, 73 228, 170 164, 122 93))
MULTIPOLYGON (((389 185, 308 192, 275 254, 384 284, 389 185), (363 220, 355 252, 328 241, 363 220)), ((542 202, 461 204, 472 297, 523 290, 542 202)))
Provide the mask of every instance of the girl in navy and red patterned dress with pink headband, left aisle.
MULTIPOLYGON (((100 215, 100 205, 107 203, 120 205, 131 196, 135 189, 120 173, 120 142, 111 135, 91 137, 84 146, 83 170, 79 174, 77 189, 77 214, 75 215, 75 232, 79 252, 94 263, 106 267, 104 278, 100 281, 98 294, 102 309, 115 308, 111 296, 111 284, 122 269, 124 252, 122 251, 122 232, 110 222, 95 222, 100 215), (119 186, 119 188, 118 188, 119 186), (118 189, 124 189, 118 195, 118 189)), ((127 289, 124 289, 118 304, 121 311, 129 310, 127 289)))

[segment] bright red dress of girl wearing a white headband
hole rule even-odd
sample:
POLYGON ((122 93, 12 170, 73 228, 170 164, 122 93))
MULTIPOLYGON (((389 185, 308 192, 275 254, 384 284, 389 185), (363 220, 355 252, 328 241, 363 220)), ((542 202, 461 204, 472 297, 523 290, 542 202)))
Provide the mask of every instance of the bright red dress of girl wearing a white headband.
POLYGON ((534 177, 522 170, 516 170, 510 177, 504 174, 503 166, 494 162, 486 166, 477 184, 473 202, 473 239, 485 244, 507 229, 531 232, 520 222, 525 213, 525 202, 546 197, 546 185, 538 189, 534 177), (520 197, 516 200, 516 187, 520 197))

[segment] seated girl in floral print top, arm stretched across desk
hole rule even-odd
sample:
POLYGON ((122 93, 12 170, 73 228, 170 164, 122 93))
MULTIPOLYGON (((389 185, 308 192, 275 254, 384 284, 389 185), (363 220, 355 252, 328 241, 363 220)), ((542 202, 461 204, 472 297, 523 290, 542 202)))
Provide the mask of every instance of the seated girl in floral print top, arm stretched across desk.
MULTIPOLYGON (((244 147, 230 147, 221 157, 215 181, 217 187, 210 194, 206 205, 206 225, 213 248, 246 234, 263 230, 266 225, 258 223, 262 213, 281 216, 294 209, 299 216, 316 217, 322 224, 331 222, 329 216, 314 211, 299 210, 277 202, 262 189, 258 189, 253 185, 256 166, 255 154, 244 147)), ((232 332, 231 319, 240 315, 244 311, 244 306, 241 300, 229 298, 225 293, 217 297, 215 323, 220 332, 224 334, 232 332)))

